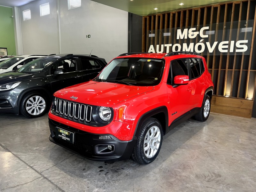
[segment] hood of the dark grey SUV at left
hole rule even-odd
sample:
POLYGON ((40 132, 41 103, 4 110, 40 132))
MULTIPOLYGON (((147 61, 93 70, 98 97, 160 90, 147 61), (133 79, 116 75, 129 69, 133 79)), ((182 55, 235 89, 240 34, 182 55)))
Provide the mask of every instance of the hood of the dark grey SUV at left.
POLYGON ((22 81, 24 78, 30 78, 34 74, 19 73, 19 72, 7 72, 0 74, 0 84, 12 83, 16 81, 22 81))

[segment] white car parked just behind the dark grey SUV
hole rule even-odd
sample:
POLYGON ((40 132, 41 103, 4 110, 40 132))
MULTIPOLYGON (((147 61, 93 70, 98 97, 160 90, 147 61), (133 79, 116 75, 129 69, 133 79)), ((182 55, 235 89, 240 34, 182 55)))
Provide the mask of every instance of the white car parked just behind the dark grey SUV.
POLYGON ((0 73, 13 71, 29 63, 32 60, 44 56, 46 55, 18 55, 15 57, 8 58, 7 60, 0 63, 0 73))

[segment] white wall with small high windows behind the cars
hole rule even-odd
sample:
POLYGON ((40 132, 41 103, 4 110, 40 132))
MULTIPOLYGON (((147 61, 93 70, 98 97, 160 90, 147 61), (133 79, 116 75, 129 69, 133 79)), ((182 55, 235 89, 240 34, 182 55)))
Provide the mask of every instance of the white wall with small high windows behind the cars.
POLYGON ((24 54, 92 51, 109 62, 128 49, 128 12, 90 0, 71 10, 68 0, 38 0, 20 7, 20 17, 24 54), (39 6, 48 2, 51 14, 40 17, 39 6), (31 20, 23 21, 27 9, 31 20))

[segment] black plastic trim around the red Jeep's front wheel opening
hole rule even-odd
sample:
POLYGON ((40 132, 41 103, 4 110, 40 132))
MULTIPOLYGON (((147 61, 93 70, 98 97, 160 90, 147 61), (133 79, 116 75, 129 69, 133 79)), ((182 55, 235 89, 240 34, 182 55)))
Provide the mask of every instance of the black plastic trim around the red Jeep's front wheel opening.
MULTIPOLYGON (((144 113, 142 116, 140 116, 139 120, 138 120, 138 123, 136 124, 136 128, 135 128, 135 131, 134 131, 134 134, 133 134, 133 138, 137 138, 137 135, 139 134, 140 132, 140 129, 138 129, 138 127, 141 127, 142 124, 149 118, 149 117, 152 117, 156 114, 159 114, 159 113, 164 113, 164 116, 165 116, 165 127, 162 125, 163 127, 163 133, 167 133, 168 132, 168 109, 166 106, 161 106, 161 107, 157 107, 155 109, 152 109, 150 111, 148 111, 147 113, 144 113)), ((158 120, 159 121, 159 120, 158 120)), ((161 123, 161 122, 160 122, 161 123)))

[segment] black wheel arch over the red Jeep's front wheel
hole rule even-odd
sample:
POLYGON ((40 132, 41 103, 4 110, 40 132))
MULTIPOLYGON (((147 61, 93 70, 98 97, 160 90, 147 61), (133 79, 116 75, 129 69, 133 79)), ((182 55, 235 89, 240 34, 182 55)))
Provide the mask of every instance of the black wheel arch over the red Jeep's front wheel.
POLYGON ((133 138, 136 138, 136 136, 140 132, 140 127, 150 117, 156 118, 161 123, 162 128, 163 128, 163 134, 168 132, 168 110, 167 110, 166 106, 161 106, 161 107, 152 109, 152 110, 144 113, 142 116, 140 116, 140 118, 136 124, 133 138))

